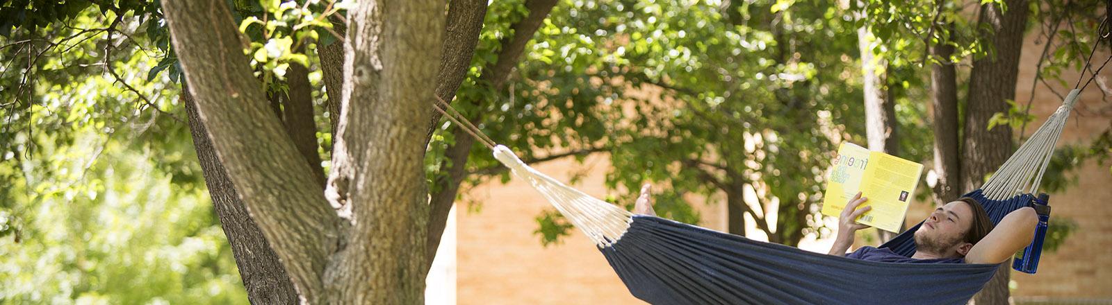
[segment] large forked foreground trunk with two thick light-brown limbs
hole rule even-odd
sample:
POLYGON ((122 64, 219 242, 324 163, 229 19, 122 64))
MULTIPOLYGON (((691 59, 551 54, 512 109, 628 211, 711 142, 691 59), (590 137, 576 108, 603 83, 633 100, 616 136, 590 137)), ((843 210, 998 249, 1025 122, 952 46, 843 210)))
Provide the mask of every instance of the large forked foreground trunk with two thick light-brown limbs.
MULTIPOLYGON (((326 47, 320 53, 334 93, 329 102, 339 104, 338 112, 329 110, 336 135, 326 192, 314 172, 319 159, 314 157, 311 99, 305 99, 311 95, 298 77, 307 71, 290 71, 296 77, 290 95, 276 113, 242 55, 245 45, 226 3, 163 3, 175 50, 192 84, 189 93, 197 99, 196 122, 208 128, 214 160, 227 170, 250 214, 234 222, 258 224, 266 236, 258 240, 269 241, 280 257, 260 263, 280 263, 278 271, 286 271, 284 278, 291 283, 287 292, 296 289, 301 303, 414 304, 424 298, 429 202, 425 142, 417 139, 425 135, 436 96, 426 88, 436 84, 445 7, 431 0, 386 2, 360 2, 350 10, 349 23, 338 27, 347 32, 338 43, 342 51, 326 47), (330 69, 337 55, 344 57, 342 74, 330 69)), ((481 24, 481 19, 468 20, 481 24)), ((459 57, 469 62, 469 52, 459 57)))

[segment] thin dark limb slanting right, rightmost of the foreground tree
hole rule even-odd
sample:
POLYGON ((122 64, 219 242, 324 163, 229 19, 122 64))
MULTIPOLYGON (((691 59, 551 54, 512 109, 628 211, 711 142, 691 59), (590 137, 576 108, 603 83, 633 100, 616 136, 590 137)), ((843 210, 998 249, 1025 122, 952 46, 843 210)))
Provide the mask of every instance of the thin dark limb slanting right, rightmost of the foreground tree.
MULTIPOLYGON (((502 40, 502 51, 498 53, 498 60, 485 67, 479 78, 487 81, 495 90, 500 90, 509 78, 509 72, 517 65, 518 58, 525 51, 525 45, 533 39, 533 34, 536 33, 537 29, 540 29, 545 18, 548 17, 548 12, 552 11, 555 4, 556 0, 526 1, 525 7, 529 9, 529 14, 510 26, 514 29, 514 34, 502 40)), ((438 88, 437 94, 439 93, 438 88)), ((478 101, 466 102, 478 103, 478 101)), ((476 118, 466 119, 475 120, 476 118)), ((429 201, 429 207, 431 209, 428 222, 429 237, 425 245, 429 262, 436 256, 436 248, 440 244, 440 235, 444 233, 448 212, 451 211, 451 204, 456 200, 459 183, 466 176, 467 169, 465 166, 467 157, 470 155, 471 145, 475 143, 475 139, 459 128, 453 131, 453 135, 455 135, 456 143, 449 146, 445 153, 445 156, 451 160, 451 166, 447 169, 448 176, 434 182, 436 184, 434 190, 438 191, 431 194, 431 200, 429 201)))

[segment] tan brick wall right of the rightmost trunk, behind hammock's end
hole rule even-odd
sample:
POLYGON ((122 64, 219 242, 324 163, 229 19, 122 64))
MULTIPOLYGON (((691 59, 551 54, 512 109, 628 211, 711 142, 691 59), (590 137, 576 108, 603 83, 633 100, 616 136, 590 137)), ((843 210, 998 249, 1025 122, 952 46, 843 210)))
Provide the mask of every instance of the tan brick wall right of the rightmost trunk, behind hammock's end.
MULTIPOLYGON (((1020 82, 1015 100, 1025 103, 1031 98, 1031 82, 1035 74, 1035 63, 1042 44, 1035 44, 1030 35, 1024 45, 1023 62, 1020 67, 1020 82)), ((1094 55, 1105 59, 1104 54, 1094 55)), ((1112 89, 1112 71, 1108 68, 1101 73, 1105 88, 1112 89)), ((1078 74, 1069 74, 1072 85, 1078 74)), ((1053 82, 1052 82, 1053 83, 1053 82)), ((1062 131, 1059 146, 1063 144, 1086 143, 1093 135, 1109 129, 1112 124, 1112 103, 1102 101, 1098 84, 1090 84, 1078 101, 1075 110, 1062 131)), ((1066 94, 1071 88, 1055 88, 1066 94)), ((1110 92, 1112 93, 1112 92, 1110 92)), ((1037 124, 1042 124, 1061 104, 1061 99, 1040 84, 1036 88, 1032 114, 1039 118, 1034 126, 1029 126, 1031 134, 1037 124)), ((1088 162, 1076 172, 1078 185, 1065 192, 1051 194, 1051 222, 1071 218, 1078 223, 1078 230, 1066 238, 1055 253, 1043 254, 1035 275, 1013 272, 1017 289, 1016 298, 1045 296, 1072 299, 1108 299, 1112 303, 1112 164, 1088 162)), ((1108 304, 1108 303, 1106 303, 1108 304)))

